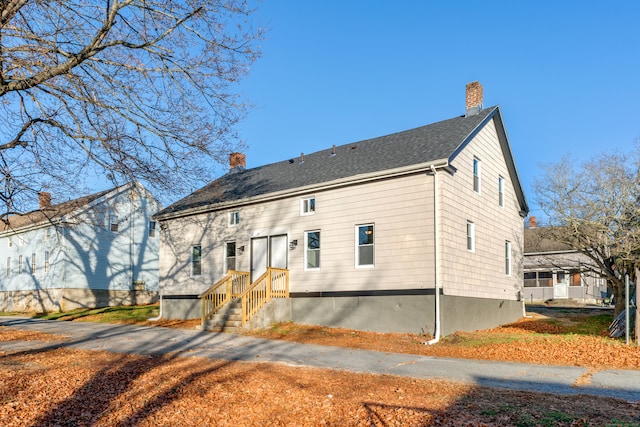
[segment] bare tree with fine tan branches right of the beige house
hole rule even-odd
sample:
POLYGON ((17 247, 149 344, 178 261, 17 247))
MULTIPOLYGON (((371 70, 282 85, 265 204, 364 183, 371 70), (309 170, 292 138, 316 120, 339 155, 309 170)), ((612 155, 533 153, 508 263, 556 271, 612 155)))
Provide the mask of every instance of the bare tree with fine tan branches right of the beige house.
POLYGON ((565 157, 545 167, 535 189, 549 220, 545 237, 588 257, 586 267, 607 279, 622 311, 624 277, 635 283, 640 267, 640 150, 579 166, 565 157))

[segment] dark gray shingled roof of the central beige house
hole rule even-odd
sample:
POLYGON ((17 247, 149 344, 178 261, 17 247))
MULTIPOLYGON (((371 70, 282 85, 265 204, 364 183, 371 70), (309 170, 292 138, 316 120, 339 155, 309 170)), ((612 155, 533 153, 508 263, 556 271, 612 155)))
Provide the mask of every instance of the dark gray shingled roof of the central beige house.
POLYGON ((215 209, 221 204, 226 206, 273 193, 411 165, 439 160, 445 162, 461 149, 481 125, 496 115, 499 116, 499 108, 494 106, 468 117, 455 117, 404 132, 327 148, 305 154, 303 158, 231 171, 168 206, 156 218, 215 209))

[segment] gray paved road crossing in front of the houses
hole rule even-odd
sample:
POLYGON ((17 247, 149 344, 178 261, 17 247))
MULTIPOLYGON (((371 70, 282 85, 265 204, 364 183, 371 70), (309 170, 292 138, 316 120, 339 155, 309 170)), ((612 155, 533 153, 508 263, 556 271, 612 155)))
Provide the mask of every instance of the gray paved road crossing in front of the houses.
POLYGON ((173 353, 189 357, 276 362, 350 372, 445 379, 485 387, 589 394, 640 401, 640 371, 603 370, 593 374, 586 385, 576 386, 579 378, 588 375, 587 369, 383 353, 153 326, 57 322, 2 316, 0 326, 68 337, 65 341, 54 343, 0 342, 0 352, 69 347, 144 355, 173 353))

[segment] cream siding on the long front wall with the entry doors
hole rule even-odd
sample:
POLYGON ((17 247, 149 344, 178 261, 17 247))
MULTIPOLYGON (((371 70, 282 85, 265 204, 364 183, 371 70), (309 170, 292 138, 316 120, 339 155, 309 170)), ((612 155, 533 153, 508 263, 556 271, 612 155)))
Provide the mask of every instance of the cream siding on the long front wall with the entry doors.
POLYGON ((161 286, 167 294, 200 293, 224 272, 224 244, 245 246, 237 269, 249 271, 253 237, 285 234, 291 292, 433 288, 432 177, 417 174, 168 221, 162 233, 161 286), (315 196, 316 212, 300 215, 300 200, 315 196), (226 225, 239 210, 240 224, 226 225), (355 266, 355 226, 375 225, 375 266, 355 266), (304 270, 304 233, 321 232, 321 267, 304 270), (203 271, 190 277, 189 248, 203 248, 203 271))

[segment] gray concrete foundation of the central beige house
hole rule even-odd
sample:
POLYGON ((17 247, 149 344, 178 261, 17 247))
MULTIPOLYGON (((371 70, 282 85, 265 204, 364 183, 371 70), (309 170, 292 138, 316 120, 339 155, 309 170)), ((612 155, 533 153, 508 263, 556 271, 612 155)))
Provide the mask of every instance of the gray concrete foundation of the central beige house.
MULTIPOLYGON (((195 296, 163 298, 163 317, 200 317, 200 300, 195 296)), ((514 322, 523 315, 519 301, 463 298, 442 295, 441 333, 474 331, 514 322)), ((247 327, 264 328, 276 322, 293 321, 375 332, 433 335, 433 295, 335 296, 274 299, 247 327)))

